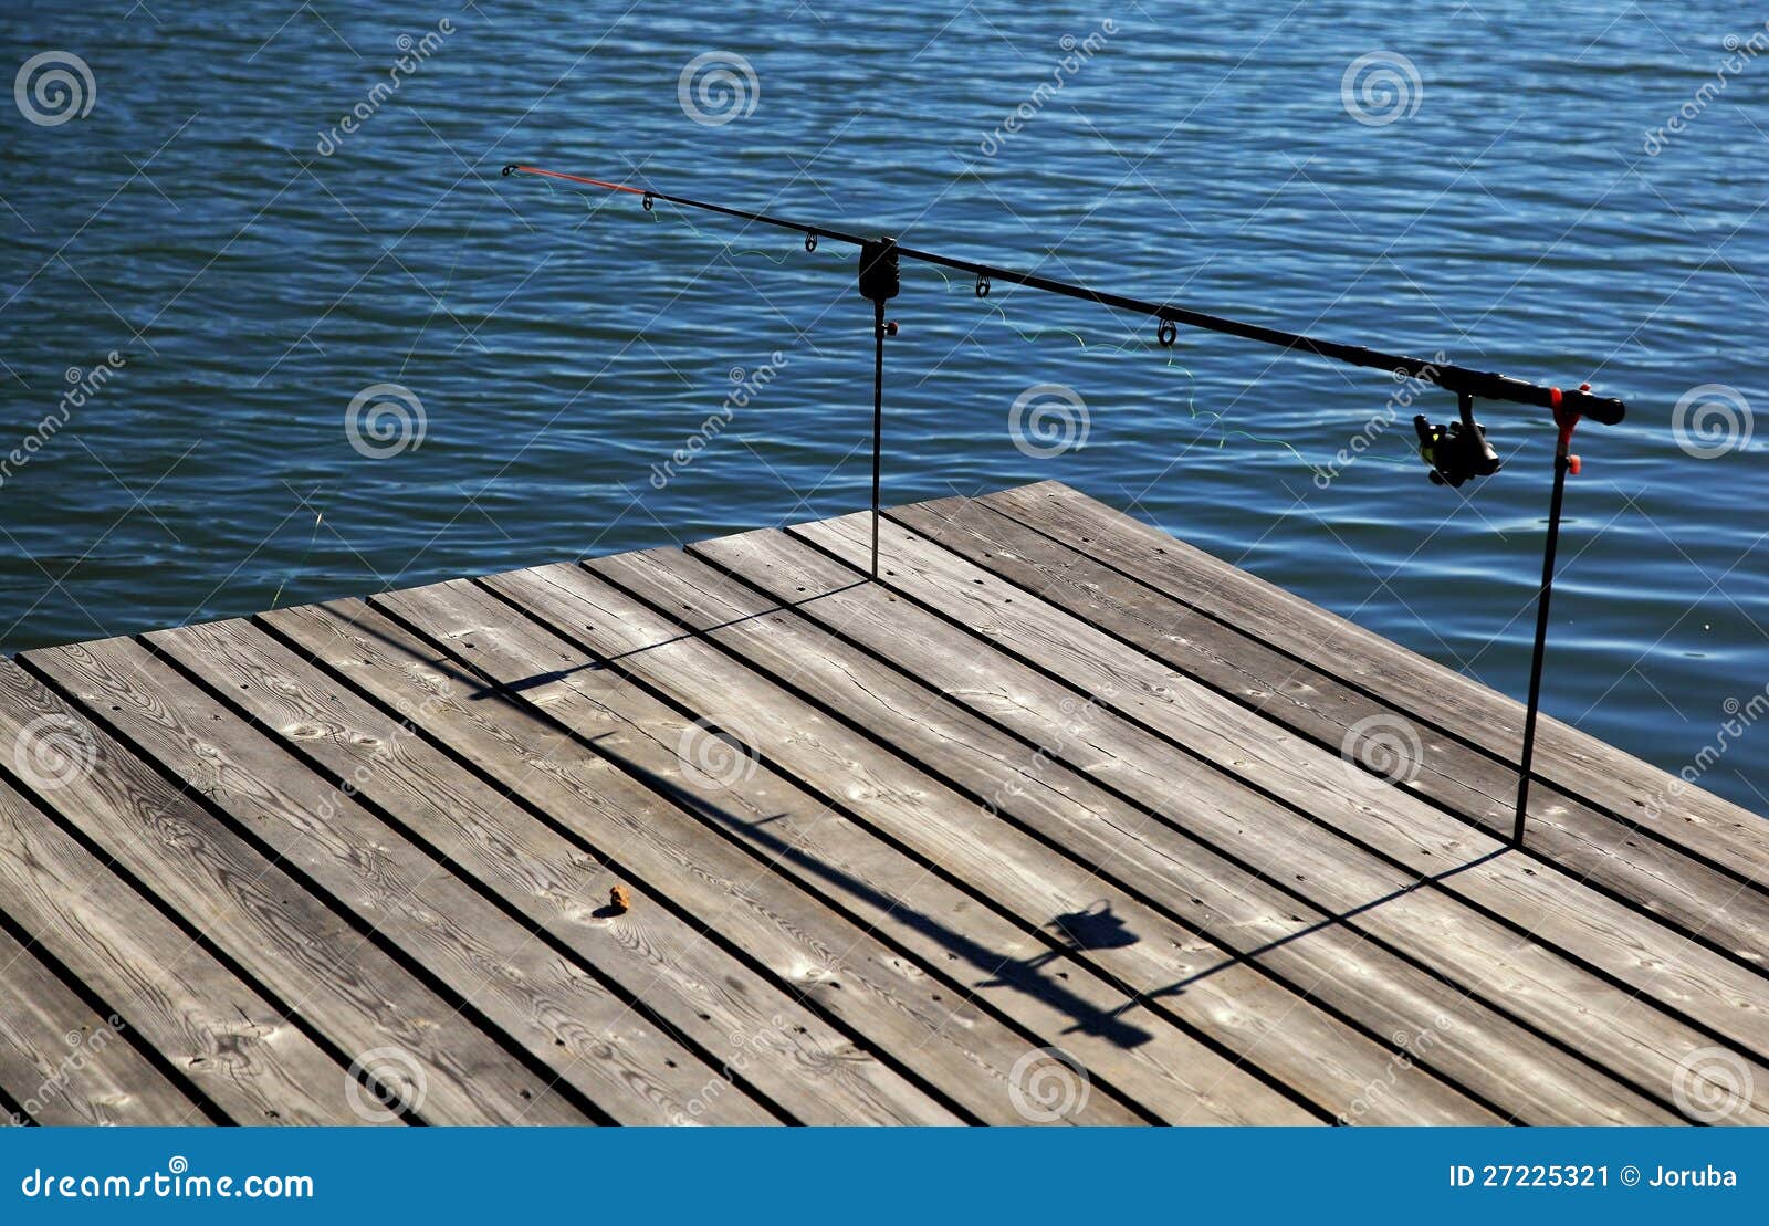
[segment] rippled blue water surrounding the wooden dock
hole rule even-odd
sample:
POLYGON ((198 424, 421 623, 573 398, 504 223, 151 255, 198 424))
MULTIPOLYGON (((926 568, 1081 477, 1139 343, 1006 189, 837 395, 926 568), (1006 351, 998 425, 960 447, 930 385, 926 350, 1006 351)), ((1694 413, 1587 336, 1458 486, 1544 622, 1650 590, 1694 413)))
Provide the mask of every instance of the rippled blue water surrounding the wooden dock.
MULTIPOLYGON (((1769 53, 1723 42, 1765 16, 34 5, 0 64, 74 55, 90 85, 0 119, 4 426, 34 442, 0 465, 0 644, 863 506, 870 329, 846 251, 499 177, 525 161, 1624 396, 1624 426, 1578 437, 1546 706, 1679 770, 1769 685, 1748 432, 1769 403, 1769 53), (426 32, 377 96, 396 39, 426 32), (1360 57, 1392 88, 1353 76, 1348 104, 1360 57), (113 350, 44 433, 69 373, 90 386, 113 350), (764 366, 690 464, 653 467, 764 366), (421 405, 419 446, 373 412, 352 446, 377 384, 421 405), (1707 384, 1730 393, 1679 446, 1675 407, 1707 384)), ((915 265, 893 317, 890 501, 1060 478, 1521 693, 1539 410, 1484 405, 1505 471, 1452 494, 1410 458, 1412 409, 1369 430, 1401 391, 1383 372, 1203 333, 1162 350, 1146 320, 1005 285, 984 304, 915 265), (1035 384, 1079 396, 1084 446, 1014 446, 1035 384)), ((1702 782, 1769 810, 1769 729, 1702 782)))

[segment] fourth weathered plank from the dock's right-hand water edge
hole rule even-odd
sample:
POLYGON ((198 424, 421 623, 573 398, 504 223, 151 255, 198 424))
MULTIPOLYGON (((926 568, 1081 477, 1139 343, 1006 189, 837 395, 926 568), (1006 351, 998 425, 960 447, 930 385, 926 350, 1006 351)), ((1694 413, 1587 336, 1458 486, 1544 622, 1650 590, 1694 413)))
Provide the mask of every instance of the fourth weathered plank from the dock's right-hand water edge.
MULTIPOLYGON (((1189 787, 1176 785, 1175 750, 1166 741, 1017 660, 978 651, 968 630, 886 587, 854 582, 849 566, 801 541, 757 531, 692 550, 1040 747, 1038 789, 1026 791, 1079 794, 1065 784, 1065 766, 1074 766, 1074 773, 1155 816, 1136 831, 1152 846, 1168 849, 1175 839, 1196 837, 1235 854, 1237 865, 1346 916, 1355 931, 1417 954, 1433 971, 1502 1003, 1659 1100, 1672 1097, 1679 1063, 1712 1046, 1711 1037, 1668 1017, 1631 987, 1590 975, 1445 892, 1415 888, 1419 874, 1229 778, 1214 784, 1210 803, 1198 803, 1189 787)), ((1306 927, 1298 918, 1297 929, 1306 927)), ((1769 1122, 1762 1074, 1753 1081, 1758 1093, 1750 1118, 1769 1122)))

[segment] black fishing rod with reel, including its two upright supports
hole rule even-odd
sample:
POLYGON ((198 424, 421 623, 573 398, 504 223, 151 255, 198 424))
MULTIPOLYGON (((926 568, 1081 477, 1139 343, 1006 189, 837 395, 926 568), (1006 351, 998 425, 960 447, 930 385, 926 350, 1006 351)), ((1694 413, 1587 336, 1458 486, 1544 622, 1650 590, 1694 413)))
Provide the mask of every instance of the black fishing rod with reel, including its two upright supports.
MULTIPOLYGON (((1056 278, 1040 276, 1037 272, 1021 272, 1017 269, 1007 269, 994 264, 982 264, 978 260, 964 260, 950 255, 941 255, 938 251, 922 251, 918 248, 907 248, 899 244, 893 237, 883 235, 870 239, 858 234, 849 234, 837 230, 833 226, 810 225, 803 221, 793 221, 789 218, 775 218, 766 212, 755 212, 750 209, 736 209, 732 205, 711 203, 708 200, 693 200, 690 196, 676 196, 663 191, 655 191, 651 188, 633 188, 632 184, 610 182, 605 179, 589 179, 586 175, 568 175, 559 170, 547 170, 543 166, 525 166, 520 163, 506 165, 502 170, 508 179, 513 173, 538 175, 545 179, 561 179, 566 182, 586 184, 591 188, 601 188, 605 191, 628 193, 640 198, 646 212, 649 212, 658 200, 672 203, 683 209, 701 209, 704 212, 716 212, 727 218, 738 218, 739 221, 750 221, 755 225, 768 225, 780 230, 793 230, 805 235, 805 249, 816 251, 819 241, 846 242, 860 249, 860 274, 858 288, 862 297, 872 303, 872 333, 874 333, 874 364, 872 364, 872 580, 877 582, 879 577, 879 515, 881 515, 881 451, 883 451, 883 430, 884 430, 884 338, 897 334, 897 324, 884 318, 884 303, 897 297, 900 292, 900 260, 918 260, 922 264, 932 264, 936 267, 953 269, 957 272, 968 272, 976 278, 976 297, 989 297, 989 290, 994 281, 1005 281, 1010 285, 1022 285, 1033 290, 1044 290, 1047 294, 1058 294, 1070 299, 1079 299, 1084 303, 1097 303, 1120 311, 1132 311, 1139 315, 1148 315, 1157 320, 1155 340, 1166 349, 1178 340, 1178 327, 1183 324, 1187 327, 1196 327, 1210 333, 1222 333, 1228 336, 1238 336, 1242 340, 1258 341, 1261 345, 1274 345, 1286 352, 1304 352, 1316 357, 1325 357, 1329 361, 1344 363, 1350 366, 1362 366, 1371 370, 1387 370, 1394 377, 1408 377, 1421 382, 1429 382, 1445 391, 1456 395, 1458 418, 1447 426, 1433 425, 1424 414, 1413 418, 1413 430, 1419 435, 1419 455, 1429 469, 1429 478, 1435 485, 1447 485, 1452 488, 1463 483, 1484 478, 1498 472, 1502 462, 1493 444, 1486 439, 1486 426, 1474 418, 1474 400, 1498 400, 1520 405, 1530 405, 1537 409, 1548 409, 1553 414, 1555 426, 1558 430, 1558 439, 1555 442, 1555 469, 1553 469, 1553 492, 1550 497, 1548 510, 1548 538, 1543 548, 1543 579, 1535 594, 1535 640, 1530 656, 1530 688, 1528 702, 1525 706, 1523 718, 1523 743, 1518 755, 1518 798, 1516 814, 1512 823, 1511 844, 1514 847, 1523 846, 1523 821, 1528 810, 1528 791, 1532 778, 1532 761, 1535 752, 1535 722, 1541 708, 1541 679, 1543 665, 1548 646, 1548 602, 1553 594, 1553 566, 1555 552, 1560 540, 1560 513, 1566 497, 1566 478, 1567 474, 1576 474, 1580 471, 1580 458, 1571 453, 1573 430, 1583 418, 1599 421, 1603 425, 1619 425, 1627 414, 1627 405, 1613 396, 1592 395, 1590 384, 1580 384, 1573 391, 1562 391, 1560 387, 1551 387, 1546 384, 1528 382, 1525 379, 1514 379, 1511 375, 1500 375, 1497 372, 1472 370, 1468 366, 1456 366, 1451 363, 1426 361, 1421 357, 1408 357, 1405 354, 1387 354, 1382 350, 1367 349, 1364 345, 1346 345, 1341 341, 1320 340, 1316 336, 1307 336, 1304 333, 1290 333, 1279 327, 1267 327, 1263 324, 1249 324, 1245 320, 1228 318, 1224 315, 1212 315, 1208 311, 1192 310, 1187 306, 1175 306, 1173 303, 1152 303, 1146 299, 1130 297, 1125 294, 1111 294, 1106 290, 1097 290, 1088 285, 1077 285, 1074 281, 1060 281, 1056 278)), ((1350 747, 1346 747, 1350 750, 1350 747)))

